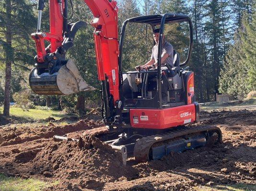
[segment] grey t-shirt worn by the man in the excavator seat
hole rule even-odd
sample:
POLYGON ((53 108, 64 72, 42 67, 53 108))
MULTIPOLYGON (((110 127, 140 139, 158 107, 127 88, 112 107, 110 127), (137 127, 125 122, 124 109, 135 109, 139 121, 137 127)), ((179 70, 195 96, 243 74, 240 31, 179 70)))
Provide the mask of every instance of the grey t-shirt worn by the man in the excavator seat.
MULTIPOLYGON (((174 67, 174 47, 169 42, 164 42, 162 45, 161 56, 163 56, 164 53, 168 53, 169 57, 166 58, 166 60, 164 61, 164 63, 161 66, 164 66, 164 64, 168 64, 171 67, 174 67)), ((152 54, 151 54, 151 59, 153 58, 155 60, 155 62, 157 61, 157 54, 158 54, 158 44, 153 46, 152 54)))

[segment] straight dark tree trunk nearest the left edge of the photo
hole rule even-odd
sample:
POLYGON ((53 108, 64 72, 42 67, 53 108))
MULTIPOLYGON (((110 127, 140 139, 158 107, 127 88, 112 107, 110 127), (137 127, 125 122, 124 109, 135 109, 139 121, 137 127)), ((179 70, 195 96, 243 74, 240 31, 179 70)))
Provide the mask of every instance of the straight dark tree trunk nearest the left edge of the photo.
POLYGON ((3 115, 10 115, 10 92, 12 77, 12 29, 11 29, 11 0, 6 0, 6 42, 5 51, 5 86, 4 86, 4 105, 3 115))

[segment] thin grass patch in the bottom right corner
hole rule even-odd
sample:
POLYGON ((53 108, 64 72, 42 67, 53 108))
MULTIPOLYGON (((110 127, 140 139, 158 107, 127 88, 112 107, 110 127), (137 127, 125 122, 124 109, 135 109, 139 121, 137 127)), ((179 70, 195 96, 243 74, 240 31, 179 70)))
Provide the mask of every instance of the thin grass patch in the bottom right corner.
POLYGON ((198 186, 196 191, 256 191, 255 184, 230 184, 216 186, 198 186))

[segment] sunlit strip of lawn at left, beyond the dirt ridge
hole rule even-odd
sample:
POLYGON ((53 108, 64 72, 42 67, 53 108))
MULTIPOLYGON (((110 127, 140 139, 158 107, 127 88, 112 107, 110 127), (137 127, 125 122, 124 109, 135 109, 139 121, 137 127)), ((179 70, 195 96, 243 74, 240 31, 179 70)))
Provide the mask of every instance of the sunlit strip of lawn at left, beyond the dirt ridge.
POLYGON ((23 111, 21 108, 18 108, 18 107, 10 107, 10 114, 12 116, 23 117, 23 118, 27 117, 32 119, 46 119, 48 117, 60 119, 62 117, 70 116, 67 114, 63 114, 61 111, 41 110, 41 109, 29 109, 29 111, 23 111))

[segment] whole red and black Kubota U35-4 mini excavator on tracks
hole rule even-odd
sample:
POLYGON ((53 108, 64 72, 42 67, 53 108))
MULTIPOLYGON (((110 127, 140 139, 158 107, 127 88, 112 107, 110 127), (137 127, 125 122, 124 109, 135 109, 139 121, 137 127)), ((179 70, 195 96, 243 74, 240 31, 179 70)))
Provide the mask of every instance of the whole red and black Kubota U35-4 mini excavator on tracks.
MULTIPOLYGON (((194 73, 186 64, 193 45, 192 22, 183 14, 139 16, 124 21, 118 41, 118 8, 115 0, 84 0, 93 13, 98 79, 103 100, 102 117, 107 132, 94 136, 118 149, 123 161, 161 159, 170 153, 183 152, 221 142, 221 130, 215 126, 193 126, 198 121, 199 105, 195 100, 194 73), (165 24, 187 22, 190 43, 186 61, 180 63, 174 51, 174 67, 161 72, 161 51, 165 24), (160 29, 158 63, 154 78, 150 70, 122 71, 123 44, 128 23, 149 24, 160 29), (143 77, 141 77, 143 76, 143 77), (162 104, 161 83, 168 81, 168 102, 162 104)), ((70 0, 73 11, 72 0, 70 0)), ((81 77, 76 64, 66 59, 76 32, 86 27, 83 21, 68 22, 68 0, 49 0, 50 32, 41 32, 45 0, 38 0, 37 32, 32 33, 37 55, 29 76, 32 90, 39 95, 70 95, 93 90, 81 77), (45 41, 50 44, 45 47, 45 41)), ((86 42, 85 42, 86 43, 86 42)), ((76 140, 55 136, 55 140, 76 140)))

